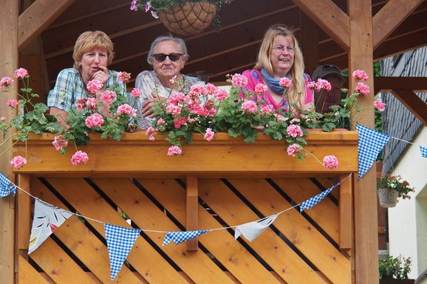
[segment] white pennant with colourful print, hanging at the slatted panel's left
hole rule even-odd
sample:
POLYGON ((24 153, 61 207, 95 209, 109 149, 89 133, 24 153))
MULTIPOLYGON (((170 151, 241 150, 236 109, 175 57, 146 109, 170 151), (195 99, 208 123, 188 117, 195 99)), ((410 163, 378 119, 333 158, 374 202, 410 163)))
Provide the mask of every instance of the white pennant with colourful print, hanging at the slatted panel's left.
POLYGON ((34 204, 34 219, 31 227, 30 245, 28 254, 35 251, 48 236, 58 229, 60 225, 70 218, 72 214, 52 204, 36 199, 34 204))

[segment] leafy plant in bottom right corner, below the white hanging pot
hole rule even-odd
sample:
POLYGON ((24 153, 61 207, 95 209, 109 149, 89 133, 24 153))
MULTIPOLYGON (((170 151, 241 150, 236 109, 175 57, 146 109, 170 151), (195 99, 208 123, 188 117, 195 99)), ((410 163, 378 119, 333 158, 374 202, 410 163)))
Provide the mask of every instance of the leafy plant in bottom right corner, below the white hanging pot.
POLYGON ((411 258, 402 256, 389 256, 379 261, 379 283, 380 284, 410 284, 413 279, 408 279, 408 273, 411 272, 411 258))

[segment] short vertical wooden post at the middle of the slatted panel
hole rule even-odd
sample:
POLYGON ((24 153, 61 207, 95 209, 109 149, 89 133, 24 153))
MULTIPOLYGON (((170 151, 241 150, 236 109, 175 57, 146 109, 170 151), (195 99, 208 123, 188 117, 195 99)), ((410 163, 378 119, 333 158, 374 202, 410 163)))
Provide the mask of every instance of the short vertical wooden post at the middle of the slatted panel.
MULTIPOLYGON (((199 210, 199 188, 198 180, 194 175, 186 178, 186 230, 198 230, 198 210, 199 210)), ((187 251, 197 251, 197 239, 187 241, 187 251)))

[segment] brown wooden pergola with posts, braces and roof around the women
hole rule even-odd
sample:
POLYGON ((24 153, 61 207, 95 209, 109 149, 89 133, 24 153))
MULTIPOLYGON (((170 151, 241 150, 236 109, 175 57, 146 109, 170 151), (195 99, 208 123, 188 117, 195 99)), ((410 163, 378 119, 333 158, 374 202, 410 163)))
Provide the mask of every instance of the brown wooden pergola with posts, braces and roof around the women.
MULTIPOLYGON (((0 76, 11 75, 16 67, 26 67, 33 89, 46 99, 46 90, 58 70, 71 66, 73 43, 85 30, 107 32, 115 43, 113 70, 127 70, 133 77, 149 69, 144 58, 149 43, 164 28, 142 12, 131 12, 128 1, 86 0, 0 0, 0 76), (137 45, 129 45, 130 40, 137 45), (46 68, 46 69, 45 69, 46 68)), ((130 1, 129 1, 130 2, 130 1)), ((427 44, 427 2, 423 0, 271 0, 258 7, 255 0, 235 0, 221 11, 223 30, 213 30, 186 38, 191 60, 186 72, 205 70, 210 80, 253 66, 263 31, 271 23, 287 23, 300 39, 308 72, 318 64, 332 63, 342 69, 365 70, 373 78, 375 60, 403 53, 427 44), (222 40, 221 40, 222 39, 222 40), (219 43, 219 44, 218 44, 219 43)), ((349 89, 354 82, 349 80, 349 89)), ((371 90, 390 91, 427 125, 427 107, 414 91, 426 91, 419 78, 376 78, 371 90)), ((15 116, 6 108, 14 94, 1 91, 1 114, 15 116)), ((374 96, 362 97, 358 104, 369 109, 356 120, 374 127, 374 96)), ((11 143, 9 143, 11 145, 11 143)), ((1 173, 14 180, 9 160, 1 160, 1 173)), ((354 187, 354 280, 378 280, 375 167, 354 187)), ((357 179, 356 179, 357 180, 357 179)), ((0 200, 0 282, 14 283, 16 255, 14 197, 0 200)), ((16 280, 17 281, 17 280, 16 280)))

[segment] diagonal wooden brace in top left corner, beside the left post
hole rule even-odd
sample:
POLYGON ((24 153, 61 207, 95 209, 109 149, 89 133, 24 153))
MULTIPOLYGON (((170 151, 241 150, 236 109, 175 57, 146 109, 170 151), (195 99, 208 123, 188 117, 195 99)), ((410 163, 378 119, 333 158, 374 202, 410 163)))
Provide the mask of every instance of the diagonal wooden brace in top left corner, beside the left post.
POLYGON ((36 0, 19 16, 19 48, 40 35, 75 0, 36 0))

